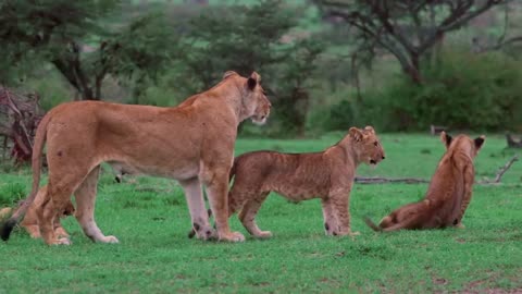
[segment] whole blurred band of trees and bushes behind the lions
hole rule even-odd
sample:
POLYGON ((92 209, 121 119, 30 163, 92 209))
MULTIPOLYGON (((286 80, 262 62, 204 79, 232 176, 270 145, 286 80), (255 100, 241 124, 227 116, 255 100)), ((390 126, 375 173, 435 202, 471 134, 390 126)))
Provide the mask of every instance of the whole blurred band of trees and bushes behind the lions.
POLYGON ((522 131, 522 2, 4 0, 0 85, 70 100, 175 106, 225 71, 258 71, 264 127, 306 136, 522 131))

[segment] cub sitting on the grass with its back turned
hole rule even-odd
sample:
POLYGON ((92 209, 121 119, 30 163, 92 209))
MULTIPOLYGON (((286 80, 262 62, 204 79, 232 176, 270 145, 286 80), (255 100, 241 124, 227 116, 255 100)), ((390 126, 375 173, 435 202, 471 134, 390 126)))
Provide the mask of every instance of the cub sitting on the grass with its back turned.
POLYGON ((447 150, 438 163, 424 199, 393 211, 384 217, 378 225, 365 218, 370 228, 385 232, 452 225, 463 228, 461 220, 470 204, 475 179, 473 159, 484 144, 485 136, 471 139, 459 135, 453 139, 442 132, 440 140, 447 150))

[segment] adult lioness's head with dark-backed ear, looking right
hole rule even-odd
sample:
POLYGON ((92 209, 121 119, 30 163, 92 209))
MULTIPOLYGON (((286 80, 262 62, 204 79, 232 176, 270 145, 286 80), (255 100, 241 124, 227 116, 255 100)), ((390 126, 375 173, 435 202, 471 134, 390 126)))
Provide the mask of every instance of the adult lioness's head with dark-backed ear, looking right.
POLYGON ((261 76, 253 72, 245 82, 244 87, 241 120, 250 118, 256 124, 264 124, 270 115, 272 103, 261 87, 261 76))

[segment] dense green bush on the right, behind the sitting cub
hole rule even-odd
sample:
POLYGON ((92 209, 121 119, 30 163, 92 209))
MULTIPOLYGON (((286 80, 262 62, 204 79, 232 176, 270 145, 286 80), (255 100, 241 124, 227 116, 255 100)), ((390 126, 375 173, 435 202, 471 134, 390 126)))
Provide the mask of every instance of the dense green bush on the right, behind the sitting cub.
POLYGON ((521 127, 522 63, 500 52, 443 53, 423 69, 424 83, 400 75, 370 89, 362 101, 346 100, 331 109, 328 128, 373 120, 385 131, 427 130, 431 124, 458 130, 505 131, 521 127))

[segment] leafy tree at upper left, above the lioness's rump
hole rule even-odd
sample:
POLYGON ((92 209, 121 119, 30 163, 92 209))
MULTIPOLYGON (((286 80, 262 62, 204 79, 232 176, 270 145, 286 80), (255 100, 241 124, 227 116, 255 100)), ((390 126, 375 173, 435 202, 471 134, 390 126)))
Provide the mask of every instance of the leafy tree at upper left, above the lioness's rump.
POLYGON ((136 17, 121 27, 108 16, 117 0, 5 0, 0 3, 2 63, 53 64, 82 99, 99 100, 109 75, 156 77, 172 56, 162 15, 136 17))

